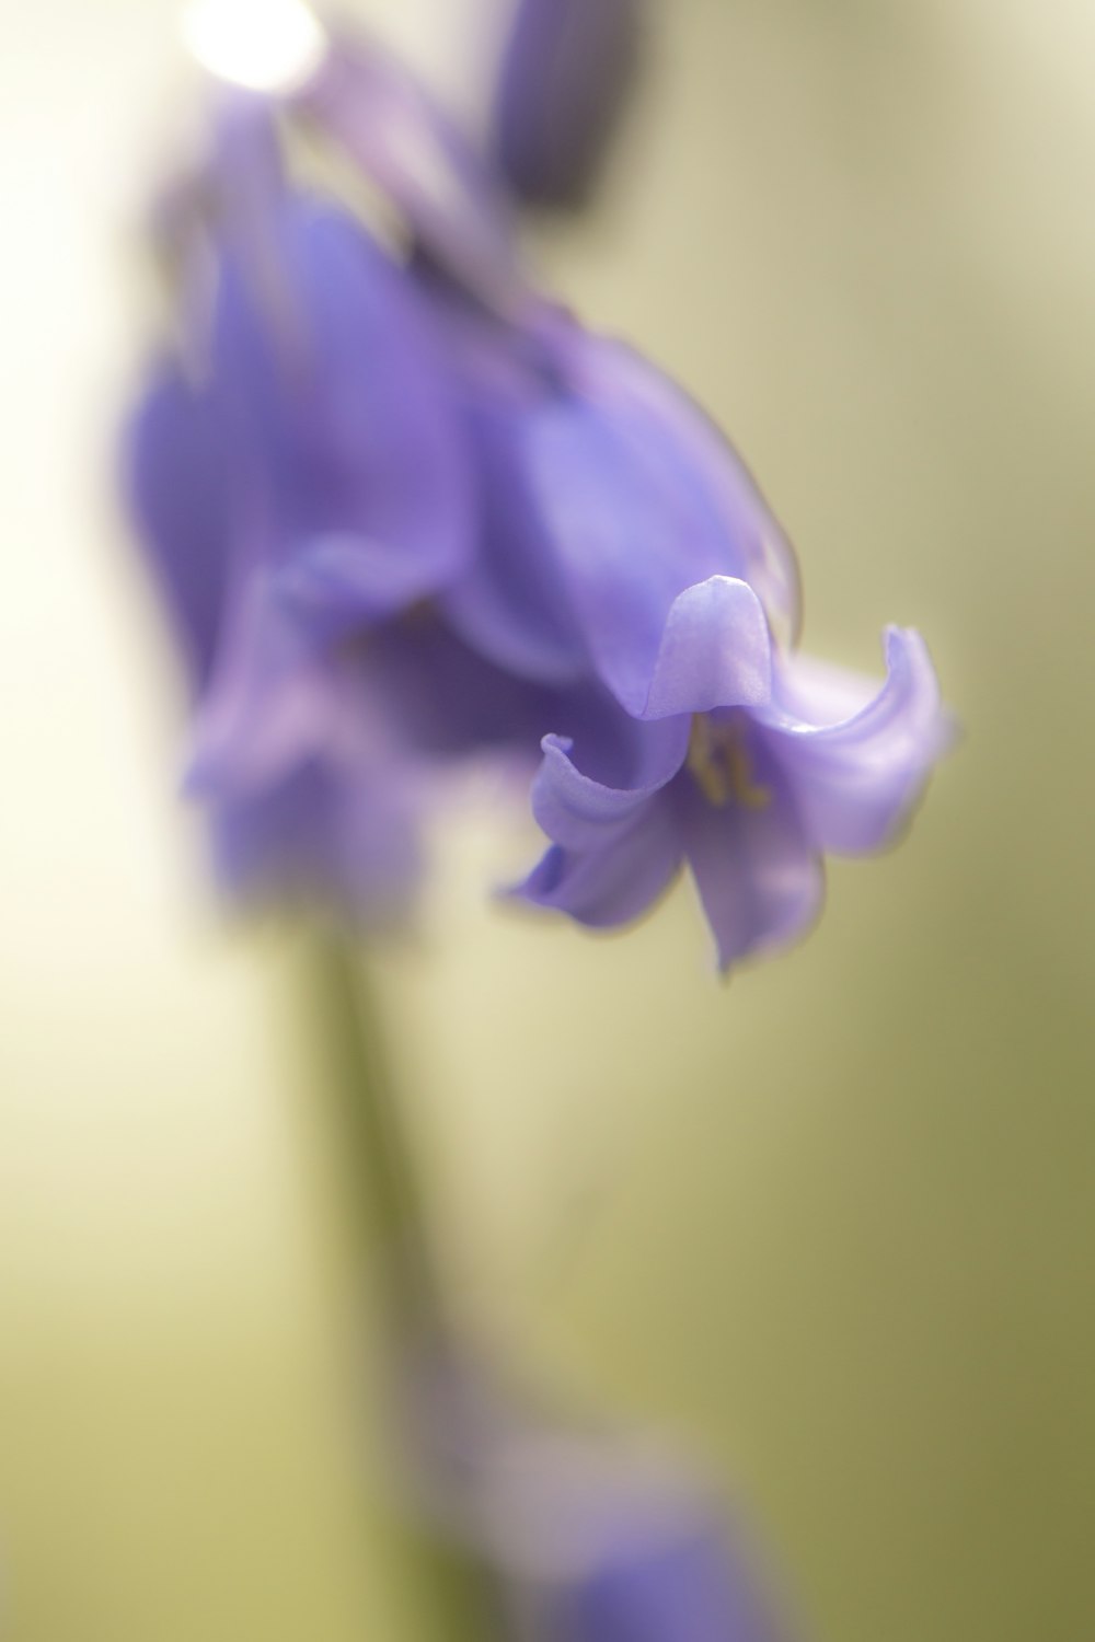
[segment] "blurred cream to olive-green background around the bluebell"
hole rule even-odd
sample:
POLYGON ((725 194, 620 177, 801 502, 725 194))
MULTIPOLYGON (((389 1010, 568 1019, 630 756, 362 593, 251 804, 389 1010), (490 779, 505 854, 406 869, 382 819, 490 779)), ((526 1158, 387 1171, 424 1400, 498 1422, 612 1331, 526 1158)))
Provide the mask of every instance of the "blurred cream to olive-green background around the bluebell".
MULTIPOLYGON (((466 113, 504 11, 350 7, 466 113)), ((814 938, 729 987, 688 888, 617 939, 493 906, 535 841, 471 805, 373 965, 392 1053, 468 1314, 671 1433, 804 1639, 1079 1642, 1095 11, 653 13, 604 202, 532 255, 731 430, 808 647, 875 670, 883 622, 919 626, 965 741, 908 844, 836 864, 814 938)), ((3 7, 3 1635, 414 1637, 302 956, 205 887, 113 486, 176 18, 3 7)))

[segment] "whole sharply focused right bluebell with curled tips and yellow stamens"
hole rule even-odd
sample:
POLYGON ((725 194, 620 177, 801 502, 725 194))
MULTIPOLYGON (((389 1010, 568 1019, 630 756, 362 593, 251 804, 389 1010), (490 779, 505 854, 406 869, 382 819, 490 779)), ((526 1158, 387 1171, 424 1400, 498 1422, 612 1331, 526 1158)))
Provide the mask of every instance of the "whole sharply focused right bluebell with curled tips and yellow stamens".
POLYGON ((627 350, 566 351, 524 473, 537 553, 619 711, 571 703, 545 739, 532 805, 553 842, 519 895, 614 928, 686 862, 729 969, 809 926, 824 854, 896 836, 949 719, 914 632, 888 632, 880 691, 801 658, 795 558, 732 450, 627 350))

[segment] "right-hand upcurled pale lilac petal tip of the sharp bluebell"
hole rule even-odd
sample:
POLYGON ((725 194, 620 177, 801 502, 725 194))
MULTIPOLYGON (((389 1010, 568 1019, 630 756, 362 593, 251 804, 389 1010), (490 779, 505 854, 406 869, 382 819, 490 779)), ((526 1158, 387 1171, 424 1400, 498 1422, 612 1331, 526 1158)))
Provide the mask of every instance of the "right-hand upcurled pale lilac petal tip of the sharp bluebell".
POLYGON ((887 629, 885 652, 873 696, 868 680, 791 658, 778 704, 757 714, 816 849, 857 855, 887 844, 952 737, 919 634, 887 629))

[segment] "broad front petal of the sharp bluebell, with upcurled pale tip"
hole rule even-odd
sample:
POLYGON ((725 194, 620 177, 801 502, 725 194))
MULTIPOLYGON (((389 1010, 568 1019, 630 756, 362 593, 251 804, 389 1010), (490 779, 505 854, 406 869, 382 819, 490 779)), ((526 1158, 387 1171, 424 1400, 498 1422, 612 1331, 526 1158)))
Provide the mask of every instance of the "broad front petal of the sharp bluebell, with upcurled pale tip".
POLYGON ((763 699, 768 612, 750 576, 762 576, 770 530, 758 494, 739 483, 729 447, 716 463, 714 433, 668 388, 655 392, 625 350, 580 343, 575 369, 575 391, 527 419, 527 461, 599 678, 637 716, 763 699))

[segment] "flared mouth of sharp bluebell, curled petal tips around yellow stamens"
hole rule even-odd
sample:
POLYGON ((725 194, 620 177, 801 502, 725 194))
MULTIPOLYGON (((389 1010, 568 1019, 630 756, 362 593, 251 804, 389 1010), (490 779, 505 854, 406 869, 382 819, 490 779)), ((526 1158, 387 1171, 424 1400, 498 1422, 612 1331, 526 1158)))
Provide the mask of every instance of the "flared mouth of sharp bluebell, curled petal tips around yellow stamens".
POLYGON ((822 855, 890 842, 949 739, 919 635, 888 629, 887 667, 875 690, 780 655, 745 583, 690 588, 657 649, 650 716, 545 739, 532 805, 553 844, 517 893, 612 928, 688 864, 724 970, 801 934, 822 855))

